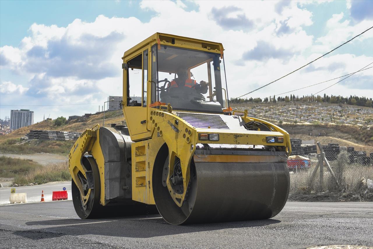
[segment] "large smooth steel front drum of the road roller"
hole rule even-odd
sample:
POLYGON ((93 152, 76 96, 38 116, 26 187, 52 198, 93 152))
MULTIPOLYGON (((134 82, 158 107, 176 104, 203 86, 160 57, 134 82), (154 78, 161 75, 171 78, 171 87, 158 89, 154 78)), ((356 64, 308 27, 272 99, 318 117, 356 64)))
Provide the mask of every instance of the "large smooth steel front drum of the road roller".
MULTIPOLYGON (((182 207, 173 202, 169 191, 162 184, 161 170, 154 169, 154 199, 158 211, 167 222, 188 224, 260 220, 272 218, 281 211, 289 193, 289 170, 285 153, 267 155, 275 162, 250 163, 242 162, 245 156, 232 156, 232 151, 227 153, 230 154, 226 156, 229 162, 209 162, 208 157, 194 155, 191 185, 186 193, 187 201, 182 207)), ((263 154, 255 155, 251 152, 246 157, 266 157, 263 154)), ((167 164, 168 159, 164 166, 167 164)))

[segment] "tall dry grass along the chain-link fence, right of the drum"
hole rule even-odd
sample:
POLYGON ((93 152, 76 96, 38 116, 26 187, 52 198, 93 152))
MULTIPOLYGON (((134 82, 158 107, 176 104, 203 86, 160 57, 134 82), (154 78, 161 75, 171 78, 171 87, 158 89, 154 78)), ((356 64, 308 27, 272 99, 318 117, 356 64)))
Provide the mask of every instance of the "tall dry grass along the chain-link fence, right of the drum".
POLYGON ((316 177, 312 184, 310 179, 312 172, 317 164, 317 159, 311 159, 311 168, 307 171, 300 171, 290 175, 290 193, 294 196, 302 193, 320 193, 320 192, 331 192, 341 193, 342 190, 345 193, 353 193, 363 196, 366 187, 362 184, 361 180, 373 179, 373 167, 364 166, 360 164, 350 164, 347 153, 340 153, 337 160, 331 161, 330 166, 340 182, 338 185, 332 175, 324 167, 324 181, 320 186, 319 170, 317 171, 316 177))

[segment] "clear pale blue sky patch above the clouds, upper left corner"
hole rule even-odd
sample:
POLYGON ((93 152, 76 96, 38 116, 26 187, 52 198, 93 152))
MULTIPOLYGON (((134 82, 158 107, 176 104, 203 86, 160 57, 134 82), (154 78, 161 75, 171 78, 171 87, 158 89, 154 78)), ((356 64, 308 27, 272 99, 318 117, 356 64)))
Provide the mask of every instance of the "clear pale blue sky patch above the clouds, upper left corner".
POLYGON ((75 19, 93 22, 98 15, 150 21, 155 13, 131 1, 0 1, 0 47, 18 46, 33 23, 66 27, 75 19), (21 18, 20 18, 21 17, 21 18))

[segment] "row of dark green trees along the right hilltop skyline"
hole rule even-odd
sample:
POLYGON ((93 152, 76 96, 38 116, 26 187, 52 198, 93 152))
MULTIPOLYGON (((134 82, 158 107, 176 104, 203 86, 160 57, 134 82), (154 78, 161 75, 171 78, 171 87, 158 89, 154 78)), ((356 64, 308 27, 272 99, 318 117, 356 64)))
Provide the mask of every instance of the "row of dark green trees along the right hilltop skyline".
POLYGON ((250 97, 241 99, 241 98, 231 98, 231 103, 277 103, 277 102, 317 102, 317 103, 330 103, 330 104, 347 104, 347 105, 355 105, 355 106, 366 106, 366 107, 373 107, 372 98, 366 97, 358 97, 352 96, 350 97, 343 97, 343 96, 328 96, 324 93, 324 96, 295 96, 294 94, 285 97, 276 97, 275 95, 266 97, 264 99, 261 98, 252 98, 250 97))

